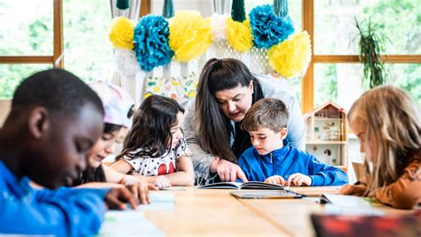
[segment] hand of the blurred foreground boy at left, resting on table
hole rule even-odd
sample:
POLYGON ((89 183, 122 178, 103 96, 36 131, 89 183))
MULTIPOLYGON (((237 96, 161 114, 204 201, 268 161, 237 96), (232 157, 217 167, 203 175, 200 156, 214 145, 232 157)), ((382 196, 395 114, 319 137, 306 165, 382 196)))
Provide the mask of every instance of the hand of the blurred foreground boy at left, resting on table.
POLYGON ((136 209, 136 198, 124 187, 112 188, 105 196, 105 201, 108 209, 126 209, 126 204, 129 202, 132 209, 136 209))

